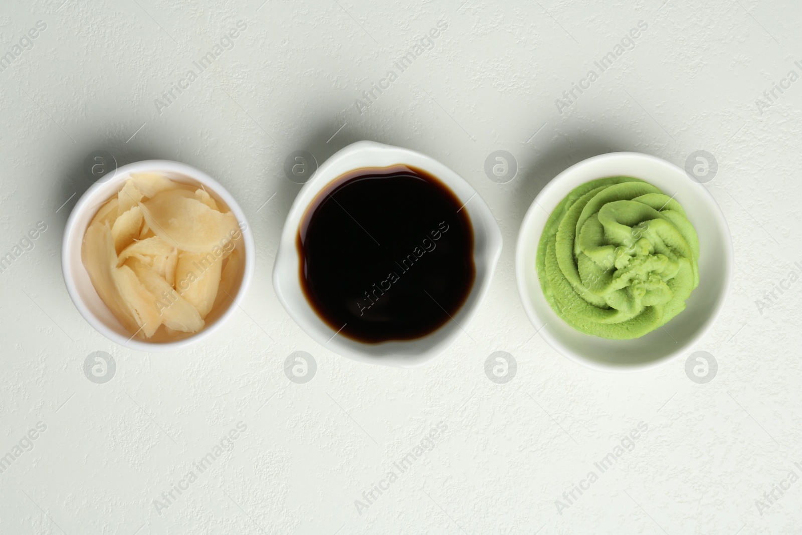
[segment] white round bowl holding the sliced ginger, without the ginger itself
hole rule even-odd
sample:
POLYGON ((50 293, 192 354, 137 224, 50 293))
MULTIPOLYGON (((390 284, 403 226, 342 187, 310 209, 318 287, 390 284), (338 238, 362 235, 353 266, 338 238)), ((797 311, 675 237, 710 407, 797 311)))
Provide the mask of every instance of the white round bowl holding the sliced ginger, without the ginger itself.
POLYGON ((238 283, 239 287, 236 293, 232 294, 232 297, 237 302, 245 295, 250 280, 253 278, 253 262, 255 258, 253 233, 240 205, 237 204, 237 201, 234 201, 230 193, 225 191, 225 188, 217 183, 217 180, 213 180, 205 172, 198 171, 196 168, 168 160, 145 160, 124 165, 118 168, 113 173, 113 176, 103 176, 97 183, 92 184, 75 204, 67 220, 67 227, 64 229, 61 265, 67 292, 70 294, 72 302, 75 303, 78 311, 100 334, 103 334, 113 342, 119 343, 121 346, 138 351, 176 351, 199 342, 209 334, 212 334, 233 314, 237 306, 230 299, 222 302, 216 309, 209 312, 206 317, 206 326, 187 338, 172 342, 148 342, 139 338, 132 338, 132 333, 128 332, 120 324, 114 314, 111 314, 111 310, 99 298, 81 261, 83 235, 86 233, 92 217, 95 217, 95 213, 104 202, 123 188, 125 180, 128 179, 132 172, 160 172, 176 182, 195 184, 199 187, 203 184, 212 197, 215 197, 218 202, 223 201, 225 205, 228 205, 234 217, 240 223, 242 231, 240 250, 244 253, 244 261, 242 262, 242 270, 238 281, 233 286, 237 288, 236 285, 238 283))

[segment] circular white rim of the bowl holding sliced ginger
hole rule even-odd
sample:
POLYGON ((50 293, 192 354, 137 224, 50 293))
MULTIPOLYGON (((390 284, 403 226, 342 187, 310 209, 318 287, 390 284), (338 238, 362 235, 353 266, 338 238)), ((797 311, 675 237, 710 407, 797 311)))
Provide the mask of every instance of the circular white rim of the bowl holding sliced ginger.
MULTIPOLYGON (((122 165, 115 169, 115 171, 109 172, 108 174, 112 176, 107 178, 108 175, 104 175, 101 179, 96 181, 95 184, 92 184, 89 188, 87 188, 87 191, 84 192, 79 198, 78 202, 75 203, 75 206, 71 210, 70 217, 67 218, 67 224, 64 225, 61 248, 62 275, 64 278, 64 284, 67 286, 67 293, 70 294, 70 298, 75 304, 75 308, 78 309, 83 318, 86 319, 87 322, 100 334, 103 334, 103 336, 110 339, 112 342, 136 351, 146 351, 150 353, 176 351, 208 338, 215 330, 219 329, 225 322, 227 322, 237 310, 237 306, 240 300, 245 296, 245 293, 250 286, 251 279, 253 278, 255 254, 253 231, 249 225, 248 218, 245 217, 245 211, 241 208, 237 200, 234 199, 233 195, 231 195, 231 193, 229 193, 229 191, 224 188, 222 184, 217 182, 217 180, 214 180, 211 176, 207 175, 205 172, 202 172, 200 169, 194 168, 188 164, 183 164, 181 162, 173 160, 140 160, 130 164, 122 165), (75 284, 75 272, 72 269, 72 261, 75 258, 76 251, 73 247, 71 247, 71 243, 75 240, 75 233, 82 233, 83 236, 83 233, 86 233, 87 230, 78 228, 79 217, 86 210, 93 209, 95 206, 98 206, 100 203, 108 200, 107 198, 103 199, 103 201, 95 200, 95 196, 98 194, 99 190, 107 188, 108 184, 117 181, 119 181, 119 183, 122 185, 125 176, 132 172, 175 172, 184 176, 188 176, 188 178, 204 184, 205 187, 209 187, 213 193, 221 197, 221 199, 225 201, 225 204, 229 206, 229 209, 234 214, 234 217, 237 218, 237 223, 240 224, 240 231, 243 237, 245 252, 243 255, 245 258, 240 288, 237 290, 237 294, 233 296, 233 302, 229 304, 229 307, 217 318, 215 322, 213 322, 212 325, 205 326, 196 334, 192 334, 187 338, 181 338, 180 340, 173 342, 144 342, 133 338, 133 336, 132 338, 126 339, 115 330, 112 330, 106 326, 105 323, 102 322, 94 312, 92 312, 89 306, 87 306, 86 302, 83 301, 77 285, 75 284), (234 306, 235 304, 237 306, 234 306)), ((83 238, 80 242, 83 243, 83 238)), ((80 247, 77 250, 77 254, 80 255, 80 247)), ((83 265, 83 263, 80 262, 80 259, 79 265, 83 265)), ((111 310, 109 311, 109 314, 111 314, 111 310)))

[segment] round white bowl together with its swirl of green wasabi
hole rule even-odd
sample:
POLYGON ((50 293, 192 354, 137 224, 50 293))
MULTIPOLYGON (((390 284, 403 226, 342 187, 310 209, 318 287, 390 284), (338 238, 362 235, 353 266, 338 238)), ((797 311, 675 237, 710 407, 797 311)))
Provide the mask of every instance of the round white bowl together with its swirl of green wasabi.
POLYGON ((516 278, 537 332, 601 371, 687 352, 723 307, 727 221, 707 188, 655 156, 613 152, 566 169, 521 225, 516 278))

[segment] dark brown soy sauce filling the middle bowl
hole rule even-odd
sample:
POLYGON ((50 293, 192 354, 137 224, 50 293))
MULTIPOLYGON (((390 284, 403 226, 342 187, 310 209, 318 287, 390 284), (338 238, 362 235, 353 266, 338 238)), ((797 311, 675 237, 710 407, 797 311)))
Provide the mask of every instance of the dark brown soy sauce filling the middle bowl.
POLYGON ((421 338, 453 321, 476 268, 463 203, 407 165, 333 180, 298 229, 301 286, 318 316, 359 342, 421 338))

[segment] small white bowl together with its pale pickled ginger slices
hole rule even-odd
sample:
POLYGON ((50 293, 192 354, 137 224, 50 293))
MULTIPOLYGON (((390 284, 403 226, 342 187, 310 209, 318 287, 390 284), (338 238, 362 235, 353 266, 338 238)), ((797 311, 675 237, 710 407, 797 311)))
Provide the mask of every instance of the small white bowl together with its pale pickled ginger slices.
POLYGON ((253 277, 253 233, 225 188, 168 160, 124 165, 67 220, 62 270, 81 315, 139 351, 200 341, 237 309, 253 277))

